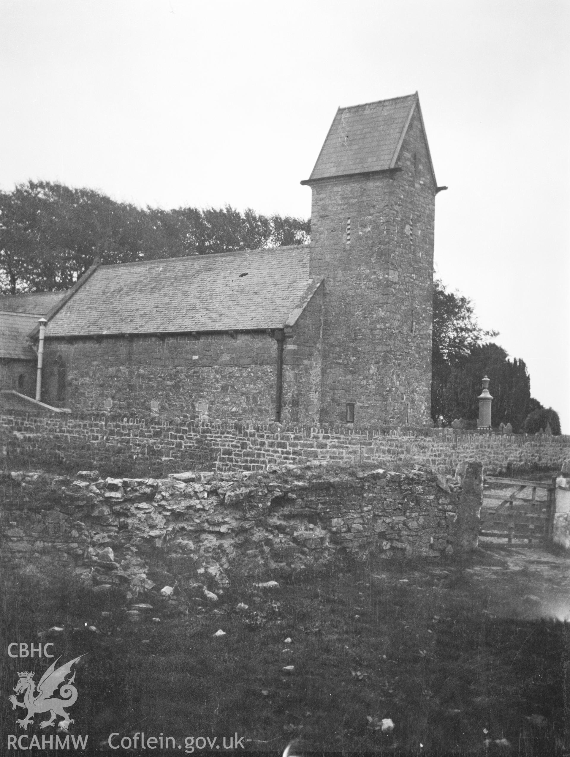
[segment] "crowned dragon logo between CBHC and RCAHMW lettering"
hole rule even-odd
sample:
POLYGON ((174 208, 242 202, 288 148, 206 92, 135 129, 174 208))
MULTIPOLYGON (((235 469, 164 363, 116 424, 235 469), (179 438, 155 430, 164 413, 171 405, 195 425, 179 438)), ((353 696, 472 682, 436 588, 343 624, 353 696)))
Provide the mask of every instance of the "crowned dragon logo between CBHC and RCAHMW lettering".
POLYGON ((51 718, 44 720, 39 724, 40 728, 47 728, 50 725, 55 724, 55 718, 59 716, 64 718, 57 724, 58 727, 67 731, 70 723, 74 721, 70 719, 70 716, 65 712, 64 707, 71 707, 77 699, 77 689, 73 686, 75 681, 76 671, 73 671, 73 676, 69 681, 66 681, 67 675, 70 675, 72 665, 82 658, 83 655, 76 657, 70 662, 66 662, 65 665, 61 665, 60 668, 55 669, 55 664, 59 657, 51 663, 49 668, 45 671, 38 683, 38 689, 36 691, 36 682, 33 681, 34 674, 28 671, 18 673, 18 682, 14 687, 16 694, 23 692, 23 702, 18 702, 16 694, 12 694, 8 697, 12 702, 12 709, 17 707, 27 707, 28 714, 25 718, 17 719, 17 724, 20 728, 26 731, 28 724, 33 722, 33 717, 36 712, 49 712, 51 718), (61 684, 64 684, 63 686, 61 684), (59 691, 57 689, 59 688, 59 691), (56 692, 63 697, 59 699, 57 696, 53 696, 56 692))

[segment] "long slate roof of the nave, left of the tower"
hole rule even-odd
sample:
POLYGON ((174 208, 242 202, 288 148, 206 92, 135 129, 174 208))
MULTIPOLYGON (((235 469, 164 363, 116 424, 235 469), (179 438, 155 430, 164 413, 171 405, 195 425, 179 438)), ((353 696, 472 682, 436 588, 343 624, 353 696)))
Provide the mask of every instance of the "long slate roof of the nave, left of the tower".
POLYGON ((321 283, 308 272, 308 246, 99 266, 46 337, 282 329, 321 283))

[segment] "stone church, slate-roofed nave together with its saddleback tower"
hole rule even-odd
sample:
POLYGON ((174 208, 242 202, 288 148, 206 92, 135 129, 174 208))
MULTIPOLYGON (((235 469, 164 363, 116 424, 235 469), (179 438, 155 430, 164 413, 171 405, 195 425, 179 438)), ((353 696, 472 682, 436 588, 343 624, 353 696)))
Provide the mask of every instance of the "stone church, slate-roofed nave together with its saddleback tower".
MULTIPOLYGON (((417 93, 339 108, 311 244, 99 265, 46 315, 72 412, 429 423, 435 181, 417 93)), ((32 332, 38 346, 39 328, 32 332)))

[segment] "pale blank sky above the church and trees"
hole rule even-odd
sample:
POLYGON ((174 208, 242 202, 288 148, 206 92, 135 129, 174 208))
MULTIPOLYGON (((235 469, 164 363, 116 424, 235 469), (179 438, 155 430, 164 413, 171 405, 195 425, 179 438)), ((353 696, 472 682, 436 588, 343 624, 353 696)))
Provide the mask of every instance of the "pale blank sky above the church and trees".
POLYGON ((0 0, 0 187, 308 217, 336 108, 417 90, 435 273, 570 433, 569 33, 567 0, 0 0))

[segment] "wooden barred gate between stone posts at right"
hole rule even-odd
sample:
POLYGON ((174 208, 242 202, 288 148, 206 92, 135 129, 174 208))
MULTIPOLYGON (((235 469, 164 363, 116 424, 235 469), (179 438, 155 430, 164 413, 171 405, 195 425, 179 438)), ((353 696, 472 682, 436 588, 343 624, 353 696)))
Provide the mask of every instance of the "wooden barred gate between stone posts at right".
POLYGON ((556 478, 528 481, 485 476, 480 536, 552 541, 556 478))

